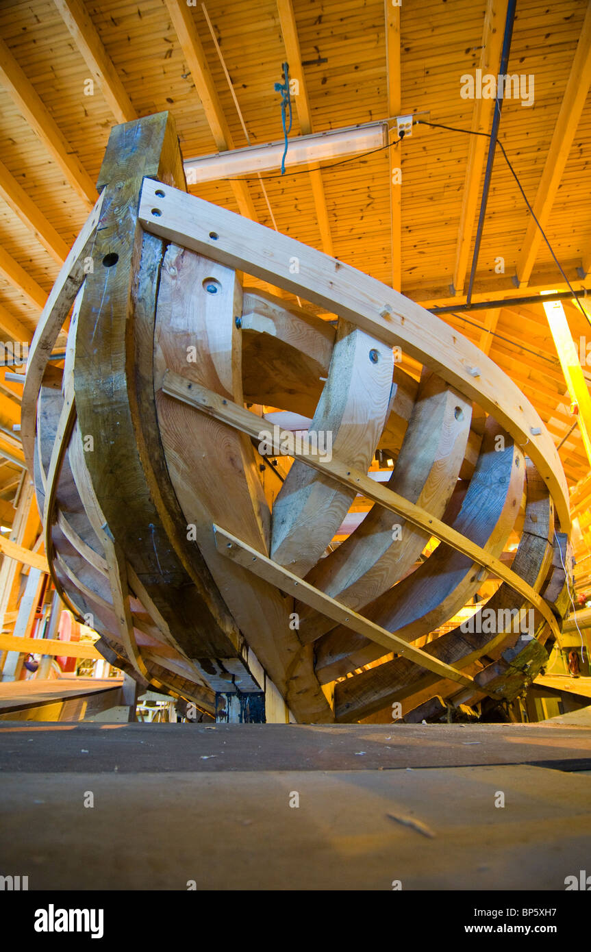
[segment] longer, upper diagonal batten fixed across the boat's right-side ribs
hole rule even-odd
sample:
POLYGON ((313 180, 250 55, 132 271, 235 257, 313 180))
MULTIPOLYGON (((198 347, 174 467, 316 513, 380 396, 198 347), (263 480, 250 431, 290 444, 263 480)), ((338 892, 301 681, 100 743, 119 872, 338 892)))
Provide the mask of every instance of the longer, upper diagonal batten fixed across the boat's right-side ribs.
MULTIPOLYGON (((163 383, 163 390, 169 396, 173 396, 177 400, 182 400, 191 407, 201 409, 202 412, 214 416, 216 419, 222 420, 230 426, 235 426, 253 439, 258 440, 261 426, 260 417, 257 417, 254 413, 250 413, 243 407, 232 404, 229 400, 219 397, 218 394, 207 390, 205 387, 200 387, 198 384, 192 383, 187 377, 182 377, 168 370, 163 383)), ((557 625, 556 619, 538 593, 535 592, 530 585, 524 585, 522 579, 512 572, 511 569, 507 568, 506 565, 503 565, 500 559, 490 555, 490 553, 486 552, 480 545, 474 545, 474 543, 466 539, 460 532, 457 532, 455 529, 443 523, 442 520, 425 512, 421 506, 415 506, 413 503, 409 503, 408 500, 404 499, 398 493, 392 492, 391 489, 374 482, 374 480, 366 476, 364 472, 355 469, 354 466, 345 466, 345 464, 335 459, 332 459, 330 463, 325 463, 320 457, 307 455, 305 453, 296 452, 296 457, 305 461, 309 466, 313 466, 321 472, 328 473, 345 486, 356 487, 358 492, 361 492, 374 503, 379 503, 381 506, 390 509, 390 511, 404 516, 404 518, 413 525, 423 528, 429 535, 433 535, 435 538, 447 543, 447 545, 451 545, 452 548, 462 552, 463 555, 469 556, 473 562, 482 565, 483 568, 487 568, 490 572, 501 578, 503 582, 507 582, 511 585, 512 588, 538 608, 548 625, 550 625, 555 636, 557 638, 560 637, 560 628, 557 625)))

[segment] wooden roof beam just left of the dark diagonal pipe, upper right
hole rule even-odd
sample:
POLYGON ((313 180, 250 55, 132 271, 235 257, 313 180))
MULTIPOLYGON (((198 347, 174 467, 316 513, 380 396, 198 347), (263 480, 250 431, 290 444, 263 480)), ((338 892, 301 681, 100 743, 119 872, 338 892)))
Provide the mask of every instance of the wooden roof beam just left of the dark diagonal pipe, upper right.
MULTIPOLYGON (((487 0, 484 11, 483 48, 479 67, 485 73, 497 74, 501 62, 502 25, 507 15, 507 0, 487 0)), ((473 132, 488 132, 490 129, 495 99, 475 99, 472 113, 473 132)), ((488 139, 483 135, 471 135, 468 142, 468 158, 463 184, 462 211, 458 228, 458 245, 454 267, 454 293, 461 295, 472 247, 472 236, 477 218, 478 197, 483 181, 484 163, 488 139)))

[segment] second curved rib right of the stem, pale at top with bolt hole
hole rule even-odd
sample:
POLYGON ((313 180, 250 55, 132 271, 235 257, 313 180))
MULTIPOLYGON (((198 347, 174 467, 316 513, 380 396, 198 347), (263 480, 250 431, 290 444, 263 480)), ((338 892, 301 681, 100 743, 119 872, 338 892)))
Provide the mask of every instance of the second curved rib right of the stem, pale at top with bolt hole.
MULTIPOLYGON (((321 455, 328 449, 328 458, 334 454, 367 469, 388 415, 393 370, 390 347, 339 322, 328 378, 308 430, 308 436, 316 435, 321 455)), ((272 559, 304 576, 334 537, 355 495, 295 460, 273 506, 272 559)))

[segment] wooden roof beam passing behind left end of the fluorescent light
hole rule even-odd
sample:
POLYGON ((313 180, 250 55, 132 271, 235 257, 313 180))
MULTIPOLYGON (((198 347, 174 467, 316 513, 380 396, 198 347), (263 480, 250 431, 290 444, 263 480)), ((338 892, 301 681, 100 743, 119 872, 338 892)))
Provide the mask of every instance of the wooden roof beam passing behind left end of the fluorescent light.
MULTIPOLYGON (((172 26, 179 38, 187 66, 201 99, 201 105, 206 113, 207 124, 219 151, 225 152, 234 148, 232 134, 227 125, 224 109, 215 88, 213 77, 207 65, 205 50, 199 38, 195 21, 190 7, 178 0, 166 0, 172 26)), ((230 182, 241 215, 252 221, 258 221, 254 203, 246 187, 246 182, 230 182)))

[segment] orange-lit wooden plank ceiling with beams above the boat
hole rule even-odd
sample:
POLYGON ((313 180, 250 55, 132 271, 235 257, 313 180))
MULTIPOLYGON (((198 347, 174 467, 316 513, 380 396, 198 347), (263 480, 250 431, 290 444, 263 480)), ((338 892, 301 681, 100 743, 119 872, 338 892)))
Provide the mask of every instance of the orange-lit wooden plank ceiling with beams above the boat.
MULTIPOLYGON (((411 112, 488 130, 490 104, 463 99, 461 77, 499 47, 505 6, 404 0, 393 11, 387 0, 385 7, 384 0, 206 0, 204 10, 201 0, 195 7, 184 0, 4 0, 0 329, 7 339, 30 340, 88 216, 113 125, 169 109, 186 159, 246 146, 216 42, 252 144, 282 138, 273 87, 286 59, 302 84, 291 135, 411 112)), ((508 71, 535 77, 535 101, 505 100, 500 128, 525 194, 577 289, 591 270, 589 9, 583 0, 542 6, 518 0, 508 71)), ((485 148, 479 154, 471 143, 462 132, 415 126, 391 155, 384 150, 312 175, 266 177, 266 195, 256 179, 190 190, 269 227, 276 223, 386 284, 400 283, 427 307, 462 305, 462 293, 454 296, 450 286, 469 271, 485 162, 485 148), (391 187, 394 161, 402 185, 391 187)), ((561 444, 572 486, 589 466, 578 428, 564 440, 575 418, 543 309, 502 306, 503 297, 566 288, 530 220, 498 149, 473 300, 498 300, 499 307, 444 320, 522 387, 561 444), (495 272, 499 258, 502 274, 495 272)), ((581 311, 571 304, 565 311, 575 340, 591 340, 581 311)), ((0 454, 19 460, 18 440, 8 434, 18 423, 20 387, 6 382, 4 372, 0 454)), ((0 502, 10 500, 15 474, 13 462, 0 468, 0 502)))

